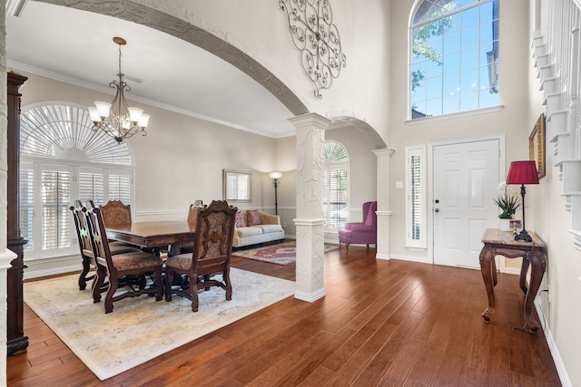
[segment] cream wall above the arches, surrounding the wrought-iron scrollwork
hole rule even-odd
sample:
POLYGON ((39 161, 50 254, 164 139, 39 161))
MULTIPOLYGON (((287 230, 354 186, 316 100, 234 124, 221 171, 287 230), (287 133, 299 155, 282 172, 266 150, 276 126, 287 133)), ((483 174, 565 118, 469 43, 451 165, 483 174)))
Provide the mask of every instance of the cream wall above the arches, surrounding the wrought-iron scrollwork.
POLYGON ((329 90, 321 92, 322 99, 314 96, 312 83, 303 73, 300 52, 292 44, 288 18, 278 1, 134 0, 134 3, 202 27, 248 53, 281 79, 310 112, 327 117, 356 117, 368 122, 384 140, 388 138, 391 92, 388 87, 390 48, 386 44, 389 23, 386 21, 390 2, 331 2, 333 23, 339 29, 347 67, 333 80, 329 90))

